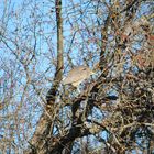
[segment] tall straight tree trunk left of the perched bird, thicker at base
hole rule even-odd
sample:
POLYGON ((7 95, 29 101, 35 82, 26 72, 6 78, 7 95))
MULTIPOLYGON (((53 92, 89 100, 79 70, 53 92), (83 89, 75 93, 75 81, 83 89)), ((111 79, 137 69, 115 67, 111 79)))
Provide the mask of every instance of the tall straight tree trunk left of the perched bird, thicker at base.
POLYGON ((62 19, 62 0, 55 1, 56 23, 57 23, 57 66, 52 87, 46 96, 45 111, 37 122, 37 128, 30 141, 31 150, 28 153, 46 154, 50 151, 50 143, 53 133, 54 119, 56 110, 55 100, 59 82, 63 76, 63 19, 62 19))

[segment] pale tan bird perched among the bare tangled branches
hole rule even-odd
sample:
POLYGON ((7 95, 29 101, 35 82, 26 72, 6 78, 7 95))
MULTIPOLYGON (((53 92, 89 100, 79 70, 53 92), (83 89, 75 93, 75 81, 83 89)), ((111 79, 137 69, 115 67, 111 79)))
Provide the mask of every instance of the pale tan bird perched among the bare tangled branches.
POLYGON ((74 87, 77 87, 85 79, 89 78, 90 75, 94 75, 95 73, 88 67, 88 66, 77 66, 73 68, 66 78, 63 80, 63 85, 73 85, 74 87))

